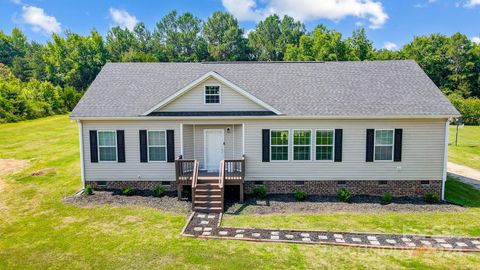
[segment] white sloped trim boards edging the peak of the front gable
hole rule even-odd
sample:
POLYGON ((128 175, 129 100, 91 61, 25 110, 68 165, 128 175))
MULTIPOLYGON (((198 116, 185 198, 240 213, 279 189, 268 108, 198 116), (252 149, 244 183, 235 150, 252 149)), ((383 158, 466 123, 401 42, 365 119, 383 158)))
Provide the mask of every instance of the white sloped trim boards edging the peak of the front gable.
POLYGON ((218 81, 220 81, 221 83, 227 85, 228 87, 230 87, 232 90, 236 91, 237 93, 245 96, 246 98, 250 99, 251 101, 255 102, 256 104, 260 105, 261 107, 269 110, 269 111, 272 111, 276 114, 282 114, 279 110, 273 108, 272 106, 268 105, 267 103, 261 101, 260 99, 256 98, 255 96, 253 96, 252 94, 248 93, 247 91, 243 90, 242 88, 238 87, 237 85, 235 85, 234 83, 230 82, 229 80, 225 79, 224 77, 222 77, 220 74, 216 73, 215 71, 209 71, 207 72, 206 74, 204 74, 203 76, 201 76, 200 78, 194 80, 193 82, 189 83, 188 85, 186 85, 185 87, 183 87, 182 89, 180 89, 179 91, 177 91, 175 94, 169 96, 168 98, 162 100, 160 103, 158 103, 157 105, 153 106, 152 108, 150 108, 148 111, 144 112, 142 115, 145 116, 145 115, 148 115, 150 114, 151 112, 157 110, 157 109, 160 109, 164 106, 166 106, 167 104, 171 103, 172 101, 176 100, 177 98, 179 98, 180 96, 182 96, 183 94, 185 94, 186 92, 192 90, 195 86, 197 86, 198 84, 202 83, 203 81, 206 81, 207 79, 209 78, 214 78, 218 81))

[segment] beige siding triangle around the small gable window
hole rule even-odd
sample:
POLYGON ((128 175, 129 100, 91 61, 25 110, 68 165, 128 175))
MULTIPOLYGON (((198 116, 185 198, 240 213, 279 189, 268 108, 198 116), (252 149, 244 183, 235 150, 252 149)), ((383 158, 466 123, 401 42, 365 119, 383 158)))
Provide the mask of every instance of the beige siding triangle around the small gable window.
POLYGON ((155 111, 266 111, 266 109, 225 84, 210 78, 155 111), (209 84, 220 85, 220 104, 205 104, 204 87, 209 84))

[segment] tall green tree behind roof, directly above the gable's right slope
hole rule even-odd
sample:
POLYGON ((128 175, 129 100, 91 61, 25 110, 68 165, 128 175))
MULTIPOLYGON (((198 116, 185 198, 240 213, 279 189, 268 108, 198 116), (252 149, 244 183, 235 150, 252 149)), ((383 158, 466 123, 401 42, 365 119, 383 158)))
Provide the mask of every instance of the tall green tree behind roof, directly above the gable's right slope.
POLYGON ((246 60, 246 39, 238 21, 229 13, 217 11, 203 28, 208 53, 215 61, 246 60))

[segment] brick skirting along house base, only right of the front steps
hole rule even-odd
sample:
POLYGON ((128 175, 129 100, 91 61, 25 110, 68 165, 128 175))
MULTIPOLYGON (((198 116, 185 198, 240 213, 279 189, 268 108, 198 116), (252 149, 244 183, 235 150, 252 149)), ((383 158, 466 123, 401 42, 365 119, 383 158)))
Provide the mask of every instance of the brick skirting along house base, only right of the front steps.
POLYGON ((290 194, 303 191, 307 194, 336 195, 345 187, 354 195, 383 195, 385 192, 393 196, 423 196, 426 192, 442 193, 442 181, 246 181, 245 193, 253 193, 255 186, 264 185, 270 194, 290 194), (422 182, 428 182, 428 184, 422 182))

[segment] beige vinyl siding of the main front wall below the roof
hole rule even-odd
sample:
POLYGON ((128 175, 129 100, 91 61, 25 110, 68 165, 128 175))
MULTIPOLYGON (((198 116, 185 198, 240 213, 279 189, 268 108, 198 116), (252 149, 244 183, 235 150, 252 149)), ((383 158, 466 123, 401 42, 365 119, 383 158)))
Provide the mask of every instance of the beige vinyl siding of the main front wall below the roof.
MULTIPOLYGON (((425 120, 186 120, 186 121, 82 121, 85 178, 92 180, 174 180, 174 163, 140 163, 138 130, 174 129, 175 155, 180 154, 183 123, 184 155, 203 164, 203 130, 225 130, 225 158, 242 155, 245 124, 246 180, 441 180, 445 143, 445 119, 425 120), (195 124, 195 132, 193 132, 195 124), (343 161, 293 161, 290 137, 289 161, 262 162, 262 129, 343 129, 343 161), (366 129, 403 129, 402 162, 365 162, 366 129), (125 130, 125 163, 90 163, 89 130, 125 130), (193 136, 195 133, 195 136, 193 136), (234 138, 235 136, 235 138, 234 138), (193 145, 195 137, 195 145, 193 145), (235 143, 233 143, 235 141, 235 143), (138 178, 140 175, 140 179, 138 178)), ((312 141, 315 141, 314 136, 312 141)), ((315 157, 312 145, 312 157, 315 157)), ((203 166, 201 166, 203 168, 203 166)))

